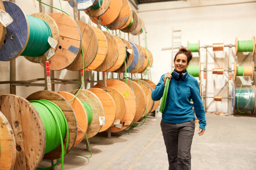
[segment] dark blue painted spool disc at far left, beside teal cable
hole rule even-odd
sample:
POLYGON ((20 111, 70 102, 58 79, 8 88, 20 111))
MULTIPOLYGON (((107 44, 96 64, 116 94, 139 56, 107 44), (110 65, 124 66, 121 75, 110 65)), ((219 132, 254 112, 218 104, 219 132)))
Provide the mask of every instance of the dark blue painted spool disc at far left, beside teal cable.
POLYGON ((0 60, 9 61, 18 57, 28 44, 29 25, 23 11, 13 2, 3 1, 5 11, 13 18, 6 27, 6 35, 0 50, 0 60))

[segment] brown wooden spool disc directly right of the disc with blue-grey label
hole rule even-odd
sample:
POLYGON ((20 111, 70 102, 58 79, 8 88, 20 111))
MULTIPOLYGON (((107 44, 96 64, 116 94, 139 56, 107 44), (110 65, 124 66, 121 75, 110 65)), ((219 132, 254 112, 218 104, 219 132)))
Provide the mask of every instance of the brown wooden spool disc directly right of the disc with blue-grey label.
POLYGON ((73 71, 82 70, 83 61, 84 68, 92 64, 93 60, 95 60, 98 51, 98 39, 95 31, 90 27, 90 25, 87 25, 87 23, 84 23, 83 21, 76 22, 79 26, 82 35, 84 60, 82 57, 82 52, 80 52, 77 58, 74 60, 74 62, 67 67, 68 70, 73 71))

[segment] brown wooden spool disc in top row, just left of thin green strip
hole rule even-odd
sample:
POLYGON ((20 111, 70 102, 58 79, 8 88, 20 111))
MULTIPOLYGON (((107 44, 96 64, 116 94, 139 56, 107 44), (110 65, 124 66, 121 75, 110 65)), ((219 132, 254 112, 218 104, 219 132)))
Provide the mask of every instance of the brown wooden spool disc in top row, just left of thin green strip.
POLYGON ((117 30, 122 28, 128 22, 130 18, 130 14, 131 14, 131 8, 128 1, 122 0, 122 9, 121 9, 120 15, 113 23, 111 23, 110 25, 107 25, 107 28, 109 28, 110 30, 117 30))

